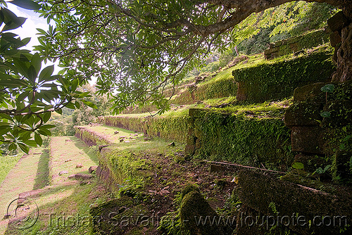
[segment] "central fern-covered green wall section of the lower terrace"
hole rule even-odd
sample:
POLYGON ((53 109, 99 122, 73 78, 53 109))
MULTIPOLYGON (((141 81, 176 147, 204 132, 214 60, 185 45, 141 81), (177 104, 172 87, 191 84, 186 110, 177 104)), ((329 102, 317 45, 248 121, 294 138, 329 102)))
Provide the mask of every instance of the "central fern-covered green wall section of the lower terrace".
POLYGON ((278 118, 246 118, 190 109, 186 151, 210 160, 286 170, 293 162, 290 131, 278 118))

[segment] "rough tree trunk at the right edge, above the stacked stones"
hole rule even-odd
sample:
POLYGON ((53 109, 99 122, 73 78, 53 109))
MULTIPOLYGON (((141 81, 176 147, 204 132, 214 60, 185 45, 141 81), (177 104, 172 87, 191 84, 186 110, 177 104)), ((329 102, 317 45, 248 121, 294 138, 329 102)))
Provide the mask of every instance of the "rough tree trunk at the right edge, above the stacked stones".
POLYGON ((347 80, 352 80, 352 23, 341 30, 341 46, 337 51, 337 72, 332 77, 333 82, 347 80))

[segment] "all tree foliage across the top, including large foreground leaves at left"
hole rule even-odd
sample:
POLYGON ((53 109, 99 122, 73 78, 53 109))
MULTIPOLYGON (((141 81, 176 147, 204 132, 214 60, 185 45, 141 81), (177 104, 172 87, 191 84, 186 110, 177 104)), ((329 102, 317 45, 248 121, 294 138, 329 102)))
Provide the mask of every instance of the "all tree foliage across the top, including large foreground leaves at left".
MULTIPOLYGON (((349 0, 317 1, 351 13, 349 0)), ((77 90, 92 77, 97 79, 98 94, 110 97, 115 113, 135 103, 164 110, 165 86, 180 82, 209 51, 222 51, 260 27, 284 20, 284 27, 293 27, 291 16, 301 15, 302 5, 291 2, 13 0, 12 4, 37 10, 51 24, 47 32, 38 29, 40 44, 32 53, 20 49, 29 39, 8 32, 25 19, 8 11, 1 0, 0 141, 23 151, 26 144, 40 145, 40 135, 50 134, 45 122, 51 112, 79 107, 80 100, 94 106, 84 100, 87 92, 77 90), (282 4, 287 4, 285 12, 275 12, 273 7, 282 4), (59 60, 58 75, 52 74, 52 66, 42 69, 48 60, 59 60)), ((277 32, 284 27, 277 27, 277 32)))

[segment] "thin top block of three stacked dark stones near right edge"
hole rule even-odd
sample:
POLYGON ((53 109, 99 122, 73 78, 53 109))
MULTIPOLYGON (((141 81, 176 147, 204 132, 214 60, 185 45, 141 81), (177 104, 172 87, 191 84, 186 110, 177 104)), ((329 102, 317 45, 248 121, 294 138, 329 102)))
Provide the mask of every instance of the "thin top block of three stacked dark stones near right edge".
POLYGON ((324 87, 327 82, 317 82, 314 84, 309 84, 303 87, 297 87, 294 89, 294 102, 306 101, 307 99, 314 99, 321 96, 321 102, 325 101, 325 94, 320 90, 324 87))

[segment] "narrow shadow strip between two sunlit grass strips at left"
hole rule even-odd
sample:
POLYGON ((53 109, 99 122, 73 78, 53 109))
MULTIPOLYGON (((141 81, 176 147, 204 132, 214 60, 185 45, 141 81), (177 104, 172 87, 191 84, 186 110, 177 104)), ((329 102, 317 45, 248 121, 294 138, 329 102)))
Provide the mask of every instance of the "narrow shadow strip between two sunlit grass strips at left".
POLYGON ((49 158, 49 150, 43 149, 39 158, 33 190, 42 189, 44 186, 49 185, 49 158))

